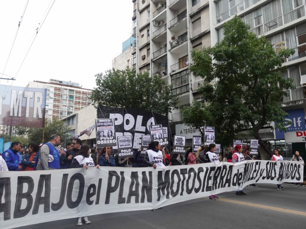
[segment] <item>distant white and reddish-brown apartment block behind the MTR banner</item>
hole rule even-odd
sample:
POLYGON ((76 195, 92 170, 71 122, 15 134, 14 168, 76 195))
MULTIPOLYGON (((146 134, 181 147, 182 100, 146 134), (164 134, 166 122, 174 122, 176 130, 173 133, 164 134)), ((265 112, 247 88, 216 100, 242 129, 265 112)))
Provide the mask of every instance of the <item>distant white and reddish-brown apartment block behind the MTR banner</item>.
POLYGON ((63 119, 92 103, 92 90, 76 82, 49 79, 49 82, 29 82, 27 87, 47 88, 46 118, 63 119))

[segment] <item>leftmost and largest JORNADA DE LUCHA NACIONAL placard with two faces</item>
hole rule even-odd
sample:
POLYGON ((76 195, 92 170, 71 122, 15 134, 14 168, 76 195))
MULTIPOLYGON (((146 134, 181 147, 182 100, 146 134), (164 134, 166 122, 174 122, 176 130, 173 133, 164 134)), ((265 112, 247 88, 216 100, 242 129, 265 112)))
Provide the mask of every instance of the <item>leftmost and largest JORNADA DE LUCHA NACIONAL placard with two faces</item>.
POLYGON ((116 146, 114 119, 99 118, 95 120, 98 151, 102 147, 116 146))

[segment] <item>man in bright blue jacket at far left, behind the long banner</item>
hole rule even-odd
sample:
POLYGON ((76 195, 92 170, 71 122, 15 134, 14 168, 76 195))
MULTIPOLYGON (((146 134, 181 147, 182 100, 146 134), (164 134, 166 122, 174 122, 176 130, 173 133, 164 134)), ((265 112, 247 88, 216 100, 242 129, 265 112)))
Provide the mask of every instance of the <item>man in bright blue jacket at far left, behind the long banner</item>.
POLYGON ((9 171, 19 171, 21 169, 19 154, 17 153, 19 152, 20 144, 20 142, 12 142, 11 147, 2 154, 9 171))

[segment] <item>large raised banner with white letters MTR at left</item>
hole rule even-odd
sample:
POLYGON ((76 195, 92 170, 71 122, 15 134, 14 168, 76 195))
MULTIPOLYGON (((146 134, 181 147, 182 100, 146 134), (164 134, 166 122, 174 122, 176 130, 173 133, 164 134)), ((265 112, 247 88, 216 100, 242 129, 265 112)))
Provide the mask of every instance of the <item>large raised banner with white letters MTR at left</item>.
POLYGON ((43 127, 46 89, 0 85, 0 125, 43 127))

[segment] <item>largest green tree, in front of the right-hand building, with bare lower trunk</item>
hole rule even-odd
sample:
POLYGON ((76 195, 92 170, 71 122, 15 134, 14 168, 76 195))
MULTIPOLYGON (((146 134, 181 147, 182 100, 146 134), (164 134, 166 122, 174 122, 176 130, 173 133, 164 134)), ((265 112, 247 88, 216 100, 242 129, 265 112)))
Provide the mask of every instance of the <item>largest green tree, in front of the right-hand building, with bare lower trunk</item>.
MULTIPOLYGON (((282 67, 292 49, 275 52, 264 36, 249 32, 250 27, 237 16, 224 24, 224 39, 214 47, 192 50, 193 75, 203 78, 199 92, 207 102, 216 129, 228 138, 247 129, 259 140, 260 147, 272 152, 260 138, 259 130, 270 126, 285 130, 280 103, 284 90, 294 89, 292 80, 285 79, 282 67)), ((192 108, 190 108, 192 109, 192 108)))

